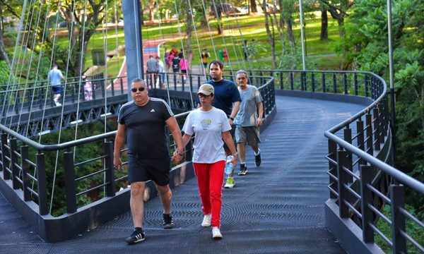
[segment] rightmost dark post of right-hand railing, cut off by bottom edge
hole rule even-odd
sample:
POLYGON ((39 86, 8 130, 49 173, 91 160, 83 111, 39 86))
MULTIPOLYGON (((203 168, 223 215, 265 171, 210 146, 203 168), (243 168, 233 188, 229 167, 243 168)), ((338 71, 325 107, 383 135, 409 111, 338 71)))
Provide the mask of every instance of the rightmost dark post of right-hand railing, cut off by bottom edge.
POLYGON ((401 232, 406 232, 405 215, 400 211, 405 205, 404 186, 390 186, 391 200, 391 238, 393 243, 393 253, 407 253, 406 239, 401 235, 401 232))

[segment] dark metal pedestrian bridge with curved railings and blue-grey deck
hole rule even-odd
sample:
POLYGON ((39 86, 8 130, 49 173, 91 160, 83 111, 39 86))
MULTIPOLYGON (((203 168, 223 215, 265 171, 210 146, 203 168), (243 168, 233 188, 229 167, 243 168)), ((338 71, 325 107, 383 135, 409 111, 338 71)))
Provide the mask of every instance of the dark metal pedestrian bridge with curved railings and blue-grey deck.
MULTIPOLYGON (((389 250, 406 251, 406 243, 408 248, 412 244, 411 248, 423 250, 423 243, 407 233, 406 217, 418 226, 423 223, 404 210, 403 193, 423 195, 424 186, 390 166, 393 147, 384 80, 359 72, 260 74, 254 82, 264 97, 263 162, 254 167, 248 150, 248 174, 235 176, 235 188, 223 191, 222 240, 213 241, 211 229, 200 225, 203 215, 190 145, 186 160, 175 165, 171 174, 175 229, 162 229, 160 200, 150 183, 143 224, 146 241, 128 246, 124 239, 132 230, 129 188, 119 188, 126 176, 112 167, 114 132, 42 145, 2 124, 2 251, 383 253, 375 240, 382 234, 379 221, 388 221, 395 233, 379 236, 386 237, 382 241, 387 241, 389 250), (75 161, 74 152, 84 144, 103 145, 102 155, 75 161), (59 171, 66 180, 64 193, 57 195, 64 197, 67 212, 55 217, 49 209, 52 191, 47 189, 45 170, 52 167, 47 159, 52 153, 59 158, 59 171), (101 168, 79 176, 78 168, 93 161, 101 168), (81 189, 84 179, 98 174, 102 183, 81 189), (77 202, 79 196, 98 189, 104 198, 88 205, 77 202), (383 204, 392 207, 391 218, 381 212, 383 204)), ((190 94, 195 84, 186 89, 177 83, 173 91, 153 88, 151 95, 166 99, 169 91, 174 98, 171 105, 189 109, 194 106, 190 94)), ((179 114, 178 119, 186 115, 179 114)), ((170 145, 172 149, 172 139, 170 145)))

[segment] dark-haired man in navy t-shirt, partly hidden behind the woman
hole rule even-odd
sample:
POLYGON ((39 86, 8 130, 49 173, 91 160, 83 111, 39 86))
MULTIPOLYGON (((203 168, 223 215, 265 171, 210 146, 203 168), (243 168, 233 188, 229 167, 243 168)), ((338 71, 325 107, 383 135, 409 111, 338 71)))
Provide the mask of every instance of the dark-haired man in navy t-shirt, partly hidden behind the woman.
MULTIPOLYGON (((213 60, 209 64, 209 75, 211 75, 211 80, 208 80, 208 84, 213 85, 215 89, 213 107, 221 109, 228 116, 228 123, 230 123, 231 131, 230 134, 234 138, 235 134, 235 125, 233 123, 235 115, 239 111, 240 102, 240 92, 237 90, 237 86, 231 80, 226 80, 223 78, 224 73, 224 64, 221 61, 213 60)), ((231 155, 230 149, 224 145, 225 153, 231 155)), ((235 181, 233 179, 234 169, 231 174, 228 176, 227 181, 225 181, 225 188, 233 188, 235 186, 235 181)))

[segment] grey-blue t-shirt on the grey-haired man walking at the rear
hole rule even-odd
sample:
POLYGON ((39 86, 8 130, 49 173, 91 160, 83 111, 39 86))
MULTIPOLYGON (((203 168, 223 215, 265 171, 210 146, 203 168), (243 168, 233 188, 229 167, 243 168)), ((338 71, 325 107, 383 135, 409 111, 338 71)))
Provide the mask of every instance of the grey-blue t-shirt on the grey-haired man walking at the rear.
POLYGON ((239 92, 242 102, 240 102, 240 109, 235 116, 234 124, 242 127, 256 126, 257 103, 262 101, 261 93, 253 85, 247 85, 247 90, 241 90, 239 87, 239 92))

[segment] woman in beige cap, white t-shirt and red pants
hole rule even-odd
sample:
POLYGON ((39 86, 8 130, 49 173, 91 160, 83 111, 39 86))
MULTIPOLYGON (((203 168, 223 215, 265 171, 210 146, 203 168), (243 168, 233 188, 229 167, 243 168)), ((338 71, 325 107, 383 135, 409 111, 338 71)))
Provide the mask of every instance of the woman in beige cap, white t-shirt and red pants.
POLYGON ((230 134, 231 126, 224 111, 212 107, 213 86, 203 84, 199 87, 201 107, 187 116, 182 131, 183 145, 194 136, 193 167, 197 176, 199 195, 204 212, 202 226, 212 226, 212 237, 222 238, 220 234, 220 211, 222 208, 222 188, 225 167, 224 141, 230 148, 237 164, 237 152, 230 134))

